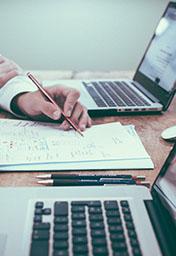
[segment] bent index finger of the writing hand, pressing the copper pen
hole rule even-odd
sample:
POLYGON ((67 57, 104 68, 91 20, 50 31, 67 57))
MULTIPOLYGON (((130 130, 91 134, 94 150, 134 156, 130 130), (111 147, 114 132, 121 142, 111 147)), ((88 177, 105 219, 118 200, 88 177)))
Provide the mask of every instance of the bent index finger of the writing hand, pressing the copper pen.
POLYGON ((80 96, 79 91, 74 89, 65 90, 65 103, 64 103, 64 113, 66 116, 70 117, 72 115, 72 111, 75 107, 75 104, 80 96))

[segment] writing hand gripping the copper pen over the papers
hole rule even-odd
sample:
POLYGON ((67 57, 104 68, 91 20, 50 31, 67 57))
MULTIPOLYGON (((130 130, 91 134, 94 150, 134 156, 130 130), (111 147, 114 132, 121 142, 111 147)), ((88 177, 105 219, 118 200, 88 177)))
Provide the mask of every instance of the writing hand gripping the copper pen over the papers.
MULTIPOLYGON (((15 104, 22 113, 35 120, 47 121, 48 118, 59 120, 62 109, 65 115, 78 125, 81 131, 91 126, 91 119, 86 108, 78 101, 79 91, 65 86, 45 87, 45 90, 59 107, 47 101, 40 91, 27 92, 16 96, 15 104)), ((64 120, 60 128, 68 130, 70 124, 64 120)))

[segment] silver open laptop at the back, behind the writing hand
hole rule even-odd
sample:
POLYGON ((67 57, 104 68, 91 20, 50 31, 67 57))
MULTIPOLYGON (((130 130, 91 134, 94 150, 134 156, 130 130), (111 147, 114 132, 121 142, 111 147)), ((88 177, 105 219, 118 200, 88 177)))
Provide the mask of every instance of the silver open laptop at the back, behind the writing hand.
POLYGON ((170 2, 133 80, 58 80, 45 85, 57 82, 77 88, 91 116, 166 111, 176 89, 175 38, 176 3, 170 2))

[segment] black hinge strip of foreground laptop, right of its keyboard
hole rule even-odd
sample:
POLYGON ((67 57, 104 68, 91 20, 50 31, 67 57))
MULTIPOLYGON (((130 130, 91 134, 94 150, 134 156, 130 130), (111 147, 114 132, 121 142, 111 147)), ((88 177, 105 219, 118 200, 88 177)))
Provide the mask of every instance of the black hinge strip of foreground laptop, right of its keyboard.
POLYGON ((163 255, 174 255, 176 230, 173 223, 169 223, 168 212, 162 209, 157 200, 145 200, 144 203, 163 255))

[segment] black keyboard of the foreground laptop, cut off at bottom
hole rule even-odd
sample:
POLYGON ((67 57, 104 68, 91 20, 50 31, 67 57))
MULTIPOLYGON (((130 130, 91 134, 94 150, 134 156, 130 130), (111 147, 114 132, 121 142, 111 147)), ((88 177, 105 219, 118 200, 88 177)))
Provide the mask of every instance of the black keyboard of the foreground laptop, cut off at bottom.
POLYGON ((32 229, 30 256, 142 255, 126 200, 39 201, 32 229))

